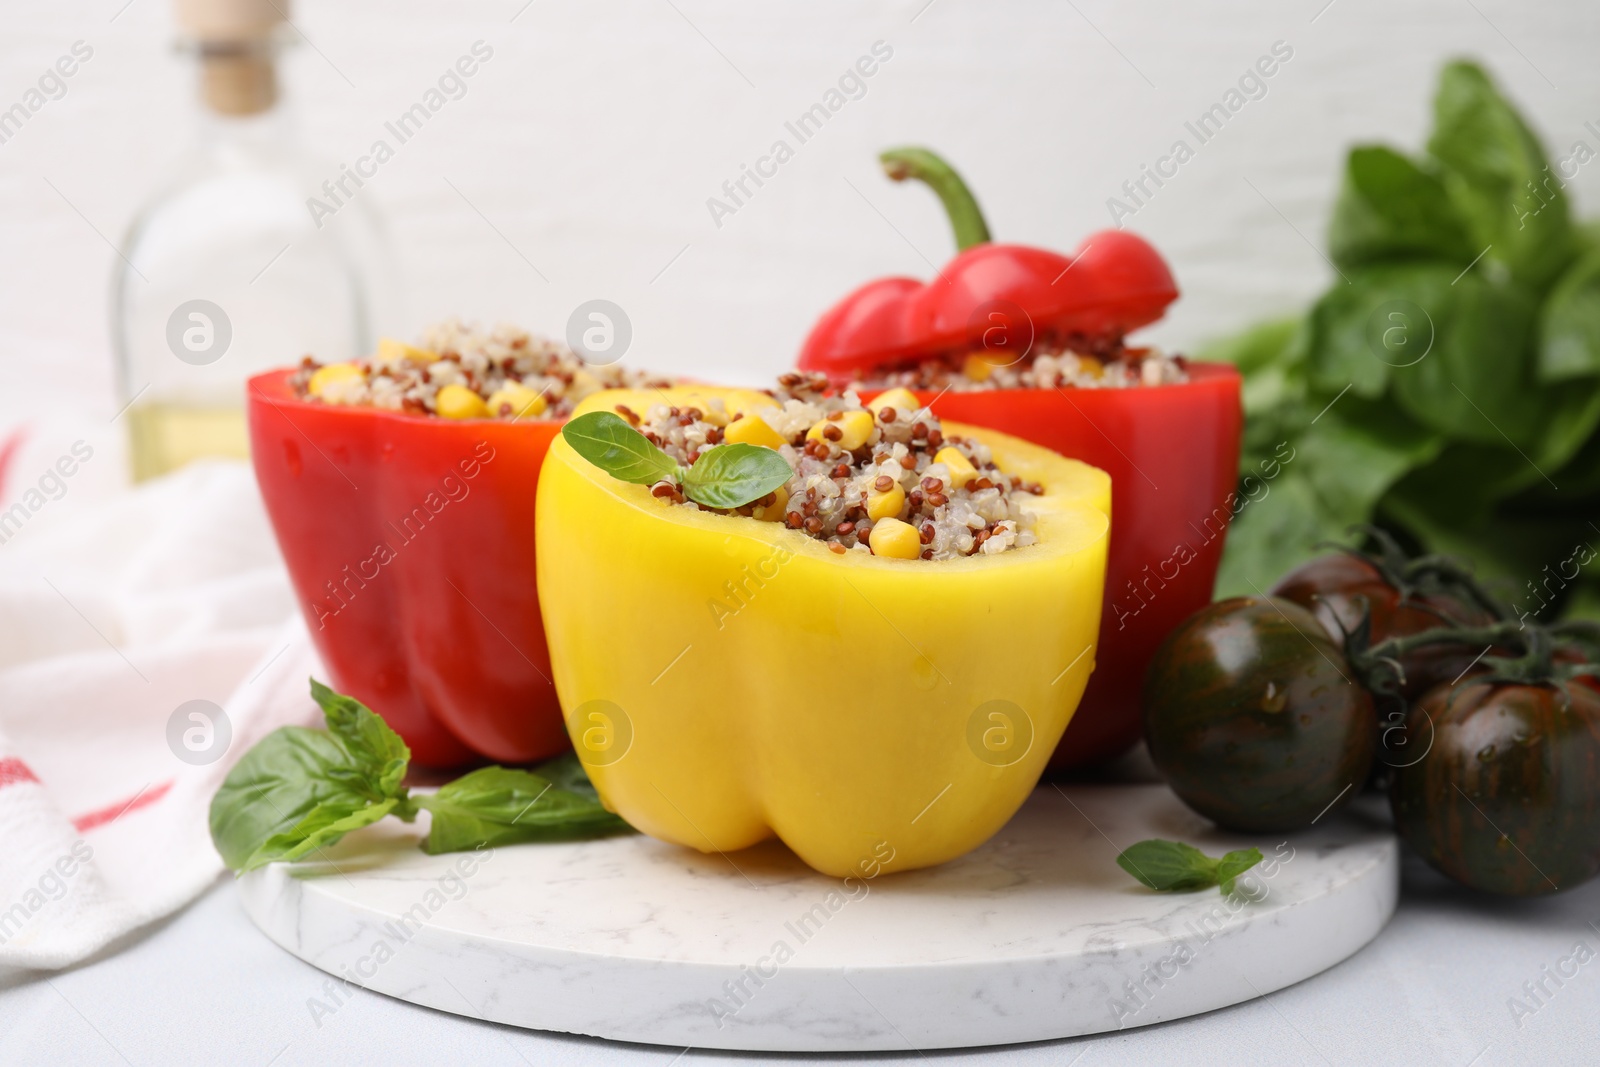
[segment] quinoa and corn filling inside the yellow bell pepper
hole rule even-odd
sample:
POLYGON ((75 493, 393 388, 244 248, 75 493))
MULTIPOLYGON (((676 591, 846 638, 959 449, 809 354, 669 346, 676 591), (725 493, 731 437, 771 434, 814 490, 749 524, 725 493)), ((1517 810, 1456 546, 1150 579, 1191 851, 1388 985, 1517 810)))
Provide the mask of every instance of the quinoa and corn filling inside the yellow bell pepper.
MULTIPOLYGON (((994 555, 1038 541, 1026 506, 1038 483, 1003 474, 979 440, 946 435, 939 419, 904 389, 864 406, 856 394, 829 395, 822 374, 784 374, 771 406, 728 411, 624 405, 616 413, 677 464, 688 467, 720 443, 774 448, 794 477, 734 512, 781 522, 830 550, 950 560, 994 555)), ((718 510, 658 482, 651 493, 678 506, 718 510)))

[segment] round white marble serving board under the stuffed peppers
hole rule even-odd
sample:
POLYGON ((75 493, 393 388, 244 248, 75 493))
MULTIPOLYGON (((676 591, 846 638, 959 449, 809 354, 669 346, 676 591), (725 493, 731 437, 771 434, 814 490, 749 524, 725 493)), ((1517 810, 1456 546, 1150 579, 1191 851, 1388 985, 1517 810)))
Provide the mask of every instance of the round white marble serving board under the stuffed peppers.
POLYGON ((750 1051, 1003 1045, 1222 1008, 1357 952, 1400 878, 1376 819, 1245 838, 1165 785, 1045 784, 976 853, 848 885, 776 843, 430 857, 418 827, 389 822, 238 883, 269 937, 336 976, 328 1011, 362 985, 538 1030, 750 1051), (1256 845, 1267 864, 1234 897, 1157 894, 1114 862, 1150 837, 1256 845))

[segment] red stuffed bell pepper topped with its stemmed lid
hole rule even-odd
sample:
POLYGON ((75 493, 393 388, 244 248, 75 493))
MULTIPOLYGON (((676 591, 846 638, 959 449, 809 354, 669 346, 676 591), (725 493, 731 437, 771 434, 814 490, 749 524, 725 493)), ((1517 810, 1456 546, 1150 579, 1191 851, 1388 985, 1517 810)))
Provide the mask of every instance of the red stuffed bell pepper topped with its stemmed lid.
POLYGON ((1130 349, 1178 298, 1162 256, 1122 230, 1072 256, 997 245, 960 176, 925 149, 882 157, 939 195, 960 253, 931 282, 880 278, 826 312, 800 368, 864 398, 906 387, 1112 477, 1096 670, 1051 766, 1101 763, 1139 736, 1155 648, 1210 603, 1232 517, 1242 410, 1232 366, 1130 349))

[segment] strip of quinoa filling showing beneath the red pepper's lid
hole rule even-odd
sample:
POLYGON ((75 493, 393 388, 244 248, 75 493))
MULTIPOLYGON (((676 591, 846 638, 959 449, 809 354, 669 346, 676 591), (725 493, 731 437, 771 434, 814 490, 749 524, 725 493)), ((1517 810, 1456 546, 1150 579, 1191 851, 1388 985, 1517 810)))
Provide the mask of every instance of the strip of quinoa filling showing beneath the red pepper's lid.
MULTIPOLYGON (((981 392, 989 389, 1133 389, 1189 381, 1184 357, 1130 349, 1122 341, 1040 342, 1022 358, 986 350, 949 352, 874 376, 872 386, 981 392)), ((859 384, 859 382, 858 382, 859 384)))

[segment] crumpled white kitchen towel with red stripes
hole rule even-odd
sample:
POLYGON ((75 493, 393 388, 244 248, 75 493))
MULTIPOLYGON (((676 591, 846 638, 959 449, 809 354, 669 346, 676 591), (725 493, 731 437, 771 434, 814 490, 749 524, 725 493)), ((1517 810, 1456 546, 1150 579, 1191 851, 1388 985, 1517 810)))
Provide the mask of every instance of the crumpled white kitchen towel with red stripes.
POLYGON ((0 968, 77 963, 198 896, 227 768, 318 721, 246 466, 50 518, 0 542, 0 968))

